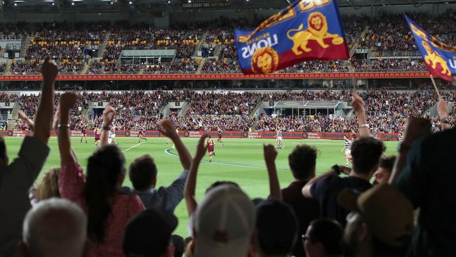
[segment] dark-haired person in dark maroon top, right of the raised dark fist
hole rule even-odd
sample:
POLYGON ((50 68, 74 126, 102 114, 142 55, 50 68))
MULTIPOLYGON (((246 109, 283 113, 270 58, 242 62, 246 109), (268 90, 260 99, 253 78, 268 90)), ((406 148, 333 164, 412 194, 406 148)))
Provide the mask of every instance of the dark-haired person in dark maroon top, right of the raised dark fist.
MULTIPOLYGON (((297 145, 288 155, 288 165, 295 180, 282 189, 282 199, 284 203, 290 204, 296 213, 299 223, 298 235, 304 235, 309 223, 320 216, 318 202, 315 199, 304 197, 301 193, 302 187, 315 177, 315 164, 315 147, 297 145)), ((306 256, 301 240, 297 240, 293 256, 306 256)))

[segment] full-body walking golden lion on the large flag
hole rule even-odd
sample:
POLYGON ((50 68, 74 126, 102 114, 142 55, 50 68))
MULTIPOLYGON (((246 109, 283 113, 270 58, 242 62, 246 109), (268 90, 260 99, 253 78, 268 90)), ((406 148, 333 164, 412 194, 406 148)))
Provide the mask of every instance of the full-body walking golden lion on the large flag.
POLYGON ((328 33, 328 22, 326 22, 326 17, 323 13, 314 12, 309 15, 307 19, 307 29, 302 30, 304 25, 300 25, 297 29, 290 29, 287 32, 288 39, 293 41, 293 53, 295 55, 301 55, 303 52, 299 50, 301 48, 304 52, 309 53, 312 51, 311 48, 307 47, 309 40, 315 40, 322 48, 328 48, 329 45, 325 44, 323 39, 333 39, 333 44, 340 45, 344 42, 344 39, 338 34, 328 33), (296 32, 293 36, 290 36, 291 32, 296 32))

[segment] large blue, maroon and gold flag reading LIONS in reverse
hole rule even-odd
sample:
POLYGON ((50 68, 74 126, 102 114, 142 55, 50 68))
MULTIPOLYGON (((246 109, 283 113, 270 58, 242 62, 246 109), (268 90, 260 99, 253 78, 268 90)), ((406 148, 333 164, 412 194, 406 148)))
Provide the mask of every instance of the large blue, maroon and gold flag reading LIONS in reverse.
POLYGON ((300 0, 253 30, 234 30, 244 74, 270 73, 309 60, 349 58, 336 0, 300 0))

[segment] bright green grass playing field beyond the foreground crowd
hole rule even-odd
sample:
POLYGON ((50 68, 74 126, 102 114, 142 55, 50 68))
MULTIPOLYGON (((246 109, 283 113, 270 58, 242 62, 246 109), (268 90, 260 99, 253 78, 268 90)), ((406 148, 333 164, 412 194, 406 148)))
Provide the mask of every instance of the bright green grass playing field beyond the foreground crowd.
MULTIPOLYGON (((23 138, 5 138, 8 147, 8 156, 13 159, 18 153, 23 138)), ((79 143, 79 138, 72 138, 72 147, 74 148, 79 163, 83 168, 86 167, 88 156, 95 150, 95 145, 91 144, 93 138, 89 138, 89 144, 79 143)), ((158 186, 169 185, 182 172, 179 158, 175 156, 175 150, 166 149, 171 145, 166 145, 166 138, 148 138, 147 142, 138 145, 137 138, 116 138, 119 147, 125 154, 127 167, 133 159, 141 154, 151 154, 154 157, 158 173, 158 186)), ((182 139, 193 154, 196 150, 197 138, 182 139)), ((264 159, 262 155, 262 145, 265 143, 274 144, 274 139, 224 139, 225 146, 216 145, 214 162, 209 163, 206 156, 205 161, 200 166, 198 183, 196 186, 196 195, 201 199, 206 188, 216 180, 232 180, 239 183, 251 198, 266 197, 269 195, 269 185, 267 181, 267 171, 264 168, 264 159)), ((319 151, 316 164, 317 173, 322 173, 330 169, 334 164, 344 164, 345 157, 340 152, 343 147, 343 141, 340 140, 285 140, 285 148, 279 150, 276 159, 276 166, 279 173, 281 187, 286 187, 293 180, 288 170, 288 154, 297 144, 313 145, 319 151)), ((396 152, 396 142, 385 142, 387 145, 387 154, 396 152)), ((48 157, 43 171, 52 167, 60 166, 60 154, 56 138, 49 141, 51 154, 48 157)), ((44 172, 41 172, 38 180, 41 179, 44 172)), ((128 176, 124 185, 130 186, 128 176)), ((175 231, 176 234, 187 237, 187 211, 184 201, 181 202, 175 211, 179 218, 179 226, 175 231)))

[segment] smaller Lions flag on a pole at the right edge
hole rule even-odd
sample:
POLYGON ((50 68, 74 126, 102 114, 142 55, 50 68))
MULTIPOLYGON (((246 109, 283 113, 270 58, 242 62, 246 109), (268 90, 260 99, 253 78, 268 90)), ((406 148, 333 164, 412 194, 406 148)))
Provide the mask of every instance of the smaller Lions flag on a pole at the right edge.
POLYGON ((456 75, 456 46, 443 44, 436 37, 427 34, 407 15, 405 20, 413 33, 429 73, 434 77, 451 81, 452 74, 456 75))

